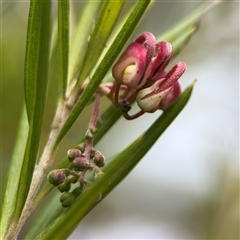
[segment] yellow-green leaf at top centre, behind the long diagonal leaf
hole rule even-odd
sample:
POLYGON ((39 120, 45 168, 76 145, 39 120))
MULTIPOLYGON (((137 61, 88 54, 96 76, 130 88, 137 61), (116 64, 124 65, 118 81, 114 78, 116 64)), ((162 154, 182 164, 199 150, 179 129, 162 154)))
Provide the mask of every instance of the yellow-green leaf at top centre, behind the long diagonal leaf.
POLYGON ((121 13, 125 1, 105 1, 92 35, 78 75, 77 84, 81 84, 96 65, 121 13))

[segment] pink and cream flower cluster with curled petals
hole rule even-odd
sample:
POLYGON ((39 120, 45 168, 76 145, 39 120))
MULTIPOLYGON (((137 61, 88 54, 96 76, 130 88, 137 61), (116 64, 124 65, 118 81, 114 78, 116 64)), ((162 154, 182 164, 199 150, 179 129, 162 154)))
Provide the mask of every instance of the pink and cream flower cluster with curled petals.
POLYGON ((150 32, 142 33, 127 47, 113 66, 115 82, 109 93, 114 104, 122 108, 125 118, 134 119, 145 112, 165 110, 180 96, 179 78, 185 72, 186 64, 179 62, 166 71, 172 55, 172 45, 167 41, 157 43, 150 32), (124 93, 120 95, 122 90, 124 93), (129 102, 133 99, 141 110, 130 116, 129 102))

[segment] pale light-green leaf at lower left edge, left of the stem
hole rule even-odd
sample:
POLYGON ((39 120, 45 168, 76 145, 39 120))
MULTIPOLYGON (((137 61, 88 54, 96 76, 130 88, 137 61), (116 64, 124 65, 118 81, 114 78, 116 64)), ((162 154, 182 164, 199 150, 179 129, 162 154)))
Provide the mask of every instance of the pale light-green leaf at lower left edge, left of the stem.
POLYGON ((3 204, 1 206, 0 236, 5 237, 9 229, 12 215, 16 206, 16 196, 18 191, 18 182, 23 165, 24 150, 28 137, 28 118, 26 108, 22 111, 22 117, 18 129, 16 144, 10 162, 7 185, 4 193, 3 204))

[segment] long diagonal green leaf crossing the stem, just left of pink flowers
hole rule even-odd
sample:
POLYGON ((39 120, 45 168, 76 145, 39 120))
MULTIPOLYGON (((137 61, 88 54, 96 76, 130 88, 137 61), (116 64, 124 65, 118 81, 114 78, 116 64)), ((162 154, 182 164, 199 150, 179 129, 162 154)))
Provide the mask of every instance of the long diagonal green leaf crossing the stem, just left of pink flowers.
POLYGON ((111 65, 113 64, 114 60, 120 53, 121 49, 123 48, 124 44, 127 42, 128 38, 130 37, 132 31, 136 27, 137 23, 139 22, 140 18, 142 17, 144 11, 146 10, 150 1, 139 1, 138 4, 135 6, 134 10, 128 17, 127 21, 125 22, 124 26, 122 27, 121 31, 117 35, 114 43, 109 48, 108 52, 106 53, 104 59, 100 63, 99 67, 97 68, 95 74, 93 75, 91 81, 87 85, 86 89, 82 93, 80 99, 76 103, 74 109, 72 110, 70 116, 68 117, 66 123, 64 124, 61 132, 58 135, 57 141, 55 146, 58 146, 62 138, 71 128, 73 123, 78 118, 79 114, 82 112, 86 104, 91 99, 94 92, 97 90, 97 87, 101 83, 102 79, 110 69, 111 65))

